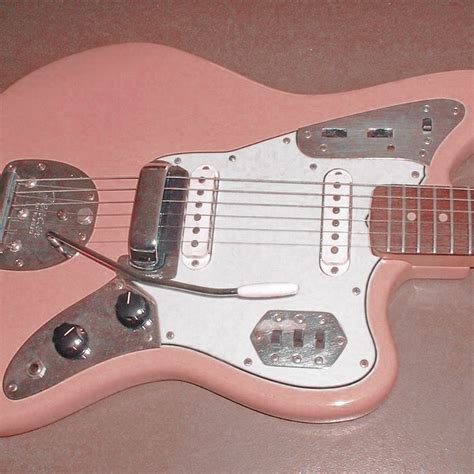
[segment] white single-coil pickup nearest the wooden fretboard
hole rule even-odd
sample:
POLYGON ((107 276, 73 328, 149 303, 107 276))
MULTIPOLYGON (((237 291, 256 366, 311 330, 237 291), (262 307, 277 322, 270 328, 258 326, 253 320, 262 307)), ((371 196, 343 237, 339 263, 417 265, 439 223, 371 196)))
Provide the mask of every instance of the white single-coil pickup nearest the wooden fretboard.
POLYGON ((349 268, 351 184, 351 175, 343 169, 331 170, 324 177, 319 265, 326 275, 341 275, 349 268))

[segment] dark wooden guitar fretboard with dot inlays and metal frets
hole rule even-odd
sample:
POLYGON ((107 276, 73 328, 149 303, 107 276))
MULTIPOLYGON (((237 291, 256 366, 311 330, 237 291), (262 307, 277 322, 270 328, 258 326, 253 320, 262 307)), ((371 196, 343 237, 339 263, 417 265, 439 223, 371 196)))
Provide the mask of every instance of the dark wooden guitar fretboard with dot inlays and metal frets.
POLYGON ((423 264, 474 264, 470 188, 377 186, 369 216, 375 255, 423 264), (432 261, 431 261, 432 259, 432 261))

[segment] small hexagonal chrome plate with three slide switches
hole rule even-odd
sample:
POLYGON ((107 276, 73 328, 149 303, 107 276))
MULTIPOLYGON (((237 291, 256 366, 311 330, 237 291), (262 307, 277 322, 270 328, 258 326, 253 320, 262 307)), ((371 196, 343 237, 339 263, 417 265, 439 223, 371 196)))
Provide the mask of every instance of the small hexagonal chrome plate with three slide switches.
POLYGON ((313 311, 268 311, 250 336, 265 365, 330 367, 347 344, 337 319, 313 311))

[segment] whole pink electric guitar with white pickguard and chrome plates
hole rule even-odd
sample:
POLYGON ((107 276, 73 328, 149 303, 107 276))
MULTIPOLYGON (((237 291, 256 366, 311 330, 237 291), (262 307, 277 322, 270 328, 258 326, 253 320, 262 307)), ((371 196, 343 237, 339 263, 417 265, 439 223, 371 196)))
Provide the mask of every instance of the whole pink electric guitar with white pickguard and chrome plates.
POLYGON ((474 73, 272 90, 126 44, 1 95, 0 435, 155 380, 278 417, 388 395, 391 292, 474 266, 474 73))

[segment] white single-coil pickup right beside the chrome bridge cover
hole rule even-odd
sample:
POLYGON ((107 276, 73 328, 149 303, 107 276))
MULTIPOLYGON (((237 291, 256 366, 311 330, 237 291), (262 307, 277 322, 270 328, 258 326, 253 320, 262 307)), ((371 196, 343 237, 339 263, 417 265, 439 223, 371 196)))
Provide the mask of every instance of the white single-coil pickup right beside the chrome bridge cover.
POLYGON ((218 178, 217 170, 209 165, 191 174, 181 252, 184 264, 193 270, 204 268, 211 260, 218 178))

